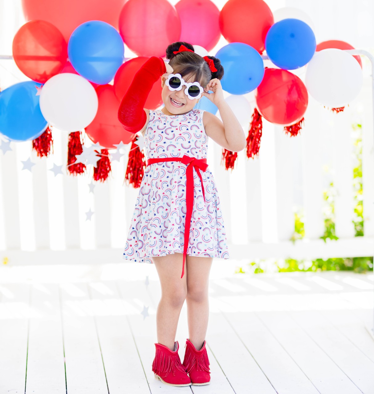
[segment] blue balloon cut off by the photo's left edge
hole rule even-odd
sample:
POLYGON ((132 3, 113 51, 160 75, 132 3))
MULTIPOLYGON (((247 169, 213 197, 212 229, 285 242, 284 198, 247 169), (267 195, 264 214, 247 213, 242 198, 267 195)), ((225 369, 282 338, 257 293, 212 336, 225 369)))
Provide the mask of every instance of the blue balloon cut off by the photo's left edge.
POLYGON ((40 111, 34 81, 20 82, 0 93, 0 133, 11 141, 28 141, 39 137, 48 122, 40 111))

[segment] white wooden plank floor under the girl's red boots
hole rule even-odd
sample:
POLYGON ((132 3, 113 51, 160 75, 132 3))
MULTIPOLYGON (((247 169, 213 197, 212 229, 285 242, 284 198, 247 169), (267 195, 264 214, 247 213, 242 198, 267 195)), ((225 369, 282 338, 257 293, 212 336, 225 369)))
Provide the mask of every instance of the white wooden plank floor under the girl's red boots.
MULTIPOLYGON (((155 380, 148 264, 0 268, 0 393, 374 393, 373 274, 233 274, 214 261, 211 384, 155 380)), ((183 361, 186 304, 176 340, 183 361)))

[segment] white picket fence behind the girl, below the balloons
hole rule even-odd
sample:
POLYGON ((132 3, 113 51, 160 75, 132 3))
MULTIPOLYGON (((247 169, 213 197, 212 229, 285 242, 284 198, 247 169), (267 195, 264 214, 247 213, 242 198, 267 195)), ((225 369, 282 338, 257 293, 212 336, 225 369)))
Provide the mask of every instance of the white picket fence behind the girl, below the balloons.
MULTIPOLYGON (((365 76, 357 99, 333 113, 312 97, 299 136, 263 120, 258 158, 238 154, 234 171, 221 164, 222 148, 209 141, 208 164, 217 182, 230 257, 316 258, 370 256, 374 250, 374 160, 371 80, 365 76), (352 123, 363 130, 363 209, 365 236, 355 237, 353 219, 352 123), (328 171, 326 171, 326 169, 328 171), (325 243, 323 191, 333 180, 338 241, 325 243), (303 208, 305 238, 293 244, 294 210, 303 208)), ((249 125, 248 125, 249 126, 249 125)), ((245 130, 248 134, 248 128, 245 130)), ((135 200, 139 192, 123 184, 128 149, 112 162, 110 178, 54 176, 53 163, 67 161, 68 133, 53 130, 54 153, 38 158, 31 141, 11 142, 0 152, 0 258, 15 264, 122 262, 135 200), (32 172, 21 160, 31 155, 32 172), (86 212, 92 210, 91 220, 86 212), (34 253, 30 253, 34 252, 34 253), (84 252, 84 253, 83 253, 84 252)), ((90 143, 86 138, 86 143, 90 143)))

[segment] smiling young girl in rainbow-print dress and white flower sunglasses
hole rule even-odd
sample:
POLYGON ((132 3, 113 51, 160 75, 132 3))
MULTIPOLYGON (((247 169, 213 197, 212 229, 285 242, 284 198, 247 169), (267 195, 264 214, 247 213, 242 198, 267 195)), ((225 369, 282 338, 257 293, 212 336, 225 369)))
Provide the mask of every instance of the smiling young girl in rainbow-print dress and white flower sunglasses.
POLYGON ((144 136, 148 158, 123 258, 152 262, 151 257, 160 278, 155 378, 172 386, 206 385, 209 271, 213 257, 229 258, 218 192, 206 163, 208 137, 234 152, 245 148, 246 139, 223 98, 219 59, 203 58, 185 42, 170 44, 166 57, 169 63, 155 56, 144 63, 118 110, 125 130, 144 136), (160 76, 165 106, 143 108, 160 76), (202 96, 218 107, 223 122, 193 109, 202 96), (189 338, 182 364, 174 340, 185 299, 189 338))

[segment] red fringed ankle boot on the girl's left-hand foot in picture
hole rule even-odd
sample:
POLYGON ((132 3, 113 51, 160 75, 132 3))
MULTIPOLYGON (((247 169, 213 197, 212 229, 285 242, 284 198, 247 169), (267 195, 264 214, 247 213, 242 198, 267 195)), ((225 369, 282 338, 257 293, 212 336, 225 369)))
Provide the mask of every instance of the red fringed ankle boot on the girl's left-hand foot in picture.
POLYGON ((152 363, 155 379, 169 386, 191 386, 191 379, 178 355, 178 341, 174 342, 174 351, 163 344, 155 343, 155 346, 156 355, 152 363))

